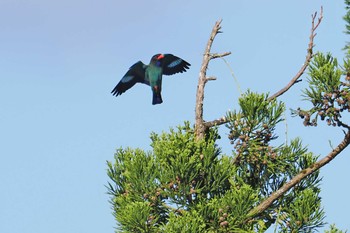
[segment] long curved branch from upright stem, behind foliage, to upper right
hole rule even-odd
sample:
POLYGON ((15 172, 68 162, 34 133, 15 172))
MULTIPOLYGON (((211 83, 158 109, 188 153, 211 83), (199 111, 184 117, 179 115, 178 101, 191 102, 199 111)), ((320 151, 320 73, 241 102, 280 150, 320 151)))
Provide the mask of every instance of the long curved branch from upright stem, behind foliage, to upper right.
MULTIPOLYGON (((317 16, 317 12, 315 12, 315 14, 312 14, 311 34, 309 36, 309 44, 308 44, 307 54, 306 54, 306 58, 305 58, 305 62, 303 64, 303 66, 300 68, 300 70, 297 72, 297 74, 290 80, 290 82, 287 84, 287 86, 285 86, 284 88, 282 88, 281 90, 279 90, 278 92, 276 92, 275 94, 270 96, 269 100, 273 100, 273 99, 281 96, 282 94, 287 92, 294 84, 301 81, 299 78, 303 75, 303 73, 305 72, 306 68, 309 66, 310 61, 313 57, 313 50, 312 49, 314 47, 314 38, 316 36, 316 29, 321 24, 321 21, 323 19, 323 7, 321 7, 320 16, 318 17, 317 22, 315 22, 316 16, 317 16)), ((204 126, 206 128, 210 128, 213 126, 226 124, 227 122, 228 122, 228 119, 225 116, 223 116, 219 119, 205 122, 204 126)))

